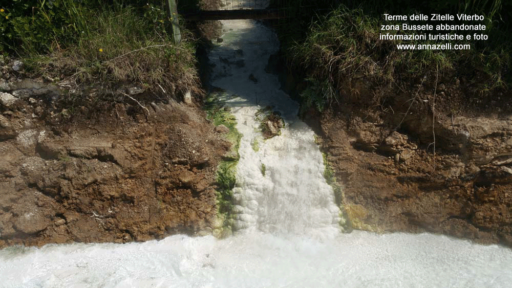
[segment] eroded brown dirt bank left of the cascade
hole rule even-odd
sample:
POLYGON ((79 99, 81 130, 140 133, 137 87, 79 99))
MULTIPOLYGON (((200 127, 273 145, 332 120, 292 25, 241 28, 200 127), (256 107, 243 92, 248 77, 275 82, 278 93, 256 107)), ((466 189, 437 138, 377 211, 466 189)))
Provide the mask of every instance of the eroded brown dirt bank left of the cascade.
POLYGON ((56 87, 29 82, 2 83, 0 247, 211 233, 225 129, 174 101, 62 109, 56 87))

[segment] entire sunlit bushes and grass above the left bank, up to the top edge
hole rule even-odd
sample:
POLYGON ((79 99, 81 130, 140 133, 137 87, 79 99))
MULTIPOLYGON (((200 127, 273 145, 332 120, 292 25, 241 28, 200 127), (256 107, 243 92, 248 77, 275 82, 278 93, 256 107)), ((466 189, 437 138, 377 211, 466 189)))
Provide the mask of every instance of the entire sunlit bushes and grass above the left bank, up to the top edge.
POLYGON ((162 1, 13 0, 0 8, 0 48, 36 76, 172 96, 199 85, 191 33, 182 29, 173 43, 162 1))

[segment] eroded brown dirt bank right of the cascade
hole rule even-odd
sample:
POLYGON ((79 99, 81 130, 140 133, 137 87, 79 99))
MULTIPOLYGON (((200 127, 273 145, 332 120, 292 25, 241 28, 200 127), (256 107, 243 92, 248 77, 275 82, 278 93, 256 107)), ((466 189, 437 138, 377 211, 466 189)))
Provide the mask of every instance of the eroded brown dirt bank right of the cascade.
POLYGON ((511 246, 510 104, 497 95, 470 107, 455 101, 466 97, 461 86, 429 80, 382 105, 368 105, 374 95, 362 89, 306 114, 344 186, 352 226, 511 246))

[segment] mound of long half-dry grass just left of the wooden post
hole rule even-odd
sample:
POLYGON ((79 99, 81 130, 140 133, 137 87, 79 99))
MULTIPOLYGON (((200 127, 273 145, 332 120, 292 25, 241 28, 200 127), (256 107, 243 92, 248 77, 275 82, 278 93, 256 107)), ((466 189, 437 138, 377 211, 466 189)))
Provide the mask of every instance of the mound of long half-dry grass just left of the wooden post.
POLYGON ((135 9, 115 6, 97 11, 86 26, 88 31, 66 49, 57 45, 53 53, 31 56, 27 63, 36 73, 84 86, 130 84, 175 98, 198 87, 194 43, 185 39, 175 45, 135 9))

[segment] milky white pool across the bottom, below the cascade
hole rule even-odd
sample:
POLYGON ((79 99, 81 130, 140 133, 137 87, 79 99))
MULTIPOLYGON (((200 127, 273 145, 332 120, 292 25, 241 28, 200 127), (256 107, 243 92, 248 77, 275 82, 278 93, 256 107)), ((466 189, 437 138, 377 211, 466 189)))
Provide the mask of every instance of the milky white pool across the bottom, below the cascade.
POLYGON ((269 233, 8 248, 0 287, 510 287, 510 250, 430 234, 269 233))

